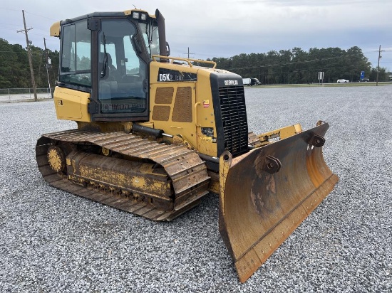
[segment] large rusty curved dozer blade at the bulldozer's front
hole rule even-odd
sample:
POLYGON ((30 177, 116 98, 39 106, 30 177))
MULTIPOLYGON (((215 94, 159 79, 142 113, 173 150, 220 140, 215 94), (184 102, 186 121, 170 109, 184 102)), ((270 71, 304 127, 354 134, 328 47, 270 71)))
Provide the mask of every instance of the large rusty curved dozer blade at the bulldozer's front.
POLYGON ((323 158, 328 124, 232 159, 220 156, 220 234, 245 282, 339 180, 323 158))

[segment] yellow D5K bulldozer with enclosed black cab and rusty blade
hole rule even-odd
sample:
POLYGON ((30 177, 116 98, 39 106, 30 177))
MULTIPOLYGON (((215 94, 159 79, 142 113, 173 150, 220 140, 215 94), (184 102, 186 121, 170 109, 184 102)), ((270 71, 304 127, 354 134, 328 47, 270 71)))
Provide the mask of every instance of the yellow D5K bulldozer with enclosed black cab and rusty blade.
POLYGON ((51 186, 156 221, 216 193, 245 282, 339 180, 322 154, 328 123, 249 131, 242 77, 171 57, 158 9, 94 12, 50 31, 60 40, 56 115, 77 124, 38 139, 51 186))

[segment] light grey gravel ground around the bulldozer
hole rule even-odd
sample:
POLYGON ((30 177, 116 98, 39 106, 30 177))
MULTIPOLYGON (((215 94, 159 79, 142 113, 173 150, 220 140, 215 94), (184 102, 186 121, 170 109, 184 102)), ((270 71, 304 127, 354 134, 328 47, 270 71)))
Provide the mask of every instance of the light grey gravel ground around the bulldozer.
POLYGON ((1 292, 391 292, 392 86, 247 88, 250 129, 330 123, 334 191, 244 284, 218 198, 155 223, 48 186, 34 146, 53 101, 0 105, 1 292))

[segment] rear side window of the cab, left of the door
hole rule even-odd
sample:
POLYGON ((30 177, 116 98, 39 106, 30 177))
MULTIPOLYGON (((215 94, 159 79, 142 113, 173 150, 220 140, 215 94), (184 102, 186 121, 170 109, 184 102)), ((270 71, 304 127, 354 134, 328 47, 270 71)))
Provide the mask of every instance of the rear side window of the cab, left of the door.
POLYGON ((91 31, 87 22, 64 26, 62 31, 60 82, 91 87, 91 31))

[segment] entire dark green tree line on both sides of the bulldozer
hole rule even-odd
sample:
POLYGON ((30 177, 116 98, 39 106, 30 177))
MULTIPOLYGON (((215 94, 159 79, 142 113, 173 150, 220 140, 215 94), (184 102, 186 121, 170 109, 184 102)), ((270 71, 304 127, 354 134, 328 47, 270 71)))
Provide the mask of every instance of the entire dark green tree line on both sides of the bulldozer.
MULTIPOLYGON (((51 59, 48 75, 51 86, 58 78, 58 50, 47 50, 30 46, 36 87, 48 87, 46 53, 51 59)), ((318 81, 318 72, 324 72, 324 82, 336 82, 344 78, 355 82, 361 71, 367 78, 376 80, 377 68, 371 68, 361 48, 301 48, 234 55, 230 58, 207 59, 217 63, 217 68, 242 75, 243 78, 258 78, 262 84, 313 83, 318 81)), ((205 64, 203 64, 205 65, 205 64)), ((386 68, 380 68, 379 81, 389 80, 386 68)), ((0 38, 0 88, 31 87, 31 75, 27 50, 19 44, 9 44, 0 38)))

